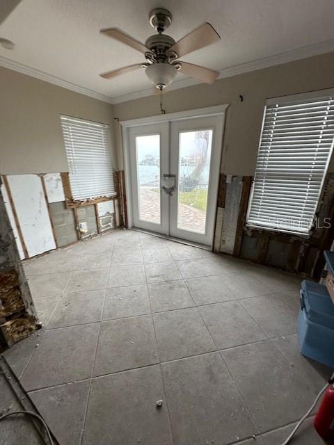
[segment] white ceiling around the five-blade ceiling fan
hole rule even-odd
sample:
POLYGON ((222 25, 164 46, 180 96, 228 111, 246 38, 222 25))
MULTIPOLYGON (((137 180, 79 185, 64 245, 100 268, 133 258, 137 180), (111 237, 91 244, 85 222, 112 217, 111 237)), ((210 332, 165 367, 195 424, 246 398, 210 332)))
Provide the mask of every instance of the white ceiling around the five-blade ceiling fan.
MULTIPOLYGON (((155 32, 148 14, 159 6, 173 14, 166 33, 175 40, 202 22, 214 26, 221 42, 184 60, 216 70, 289 51, 308 55, 308 48, 298 49, 310 45, 313 53, 334 49, 333 0, 22 0, 0 25, 0 38, 15 42, 13 51, 0 47, 0 65, 10 59, 17 70, 27 65, 33 70, 26 72, 39 70, 119 102, 151 88, 145 72, 113 80, 99 73, 140 63, 143 55, 99 31, 117 26, 145 42, 155 32)), ((184 86, 182 79, 177 74, 174 87, 184 86)))

